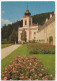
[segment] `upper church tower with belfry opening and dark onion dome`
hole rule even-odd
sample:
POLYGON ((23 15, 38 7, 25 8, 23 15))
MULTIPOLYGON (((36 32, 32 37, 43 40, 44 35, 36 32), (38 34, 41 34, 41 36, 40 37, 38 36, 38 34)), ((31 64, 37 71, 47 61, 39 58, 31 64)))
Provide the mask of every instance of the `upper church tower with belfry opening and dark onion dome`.
POLYGON ((31 13, 29 12, 28 8, 25 12, 25 16, 23 17, 23 27, 32 26, 32 17, 30 16, 31 13))

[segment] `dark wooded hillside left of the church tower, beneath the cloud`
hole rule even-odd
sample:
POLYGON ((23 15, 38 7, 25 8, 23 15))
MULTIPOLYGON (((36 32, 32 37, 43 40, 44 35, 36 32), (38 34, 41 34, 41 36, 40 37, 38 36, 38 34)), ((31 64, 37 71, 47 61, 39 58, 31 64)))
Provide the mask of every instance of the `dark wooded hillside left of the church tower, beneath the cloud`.
MULTIPOLYGON (((1 28, 2 39, 7 39, 7 41, 10 41, 9 37, 12 34, 12 31, 15 29, 16 30, 15 32, 17 32, 19 26, 20 27, 23 26, 23 21, 22 20, 21 21, 17 21, 17 22, 12 23, 12 24, 4 25, 1 28)), ((18 37, 17 37, 17 39, 18 39, 18 37)))

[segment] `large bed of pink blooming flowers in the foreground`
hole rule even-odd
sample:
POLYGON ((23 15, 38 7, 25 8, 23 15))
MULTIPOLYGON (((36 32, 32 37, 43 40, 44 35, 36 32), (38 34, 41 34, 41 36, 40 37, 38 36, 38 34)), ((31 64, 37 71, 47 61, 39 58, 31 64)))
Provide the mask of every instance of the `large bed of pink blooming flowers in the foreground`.
POLYGON ((19 56, 3 69, 2 80, 54 80, 54 77, 35 56, 19 56))

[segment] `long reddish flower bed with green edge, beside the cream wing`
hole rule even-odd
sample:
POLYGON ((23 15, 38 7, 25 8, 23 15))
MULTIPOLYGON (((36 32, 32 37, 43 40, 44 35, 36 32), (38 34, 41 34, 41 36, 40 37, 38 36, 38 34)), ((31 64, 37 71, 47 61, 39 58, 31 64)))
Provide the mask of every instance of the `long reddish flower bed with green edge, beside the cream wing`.
POLYGON ((27 45, 30 54, 55 54, 55 46, 49 44, 27 45))

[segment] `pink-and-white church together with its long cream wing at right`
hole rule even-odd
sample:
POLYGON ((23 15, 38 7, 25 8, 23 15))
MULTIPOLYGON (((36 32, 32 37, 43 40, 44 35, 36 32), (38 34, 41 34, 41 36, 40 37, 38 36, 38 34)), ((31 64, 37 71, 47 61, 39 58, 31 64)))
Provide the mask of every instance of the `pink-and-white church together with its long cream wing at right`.
POLYGON ((50 14, 50 18, 47 19, 42 26, 32 23, 31 13, 28 8, 23 17, 23 27, 18 28, 18 42, 22 42, 21 33, 22 30, 26 31, 26 42, 33 41, 41 43, 49 43, 49 37, 53 37, 53 45, 55 45, 55 12, 54 15, 50 14))

